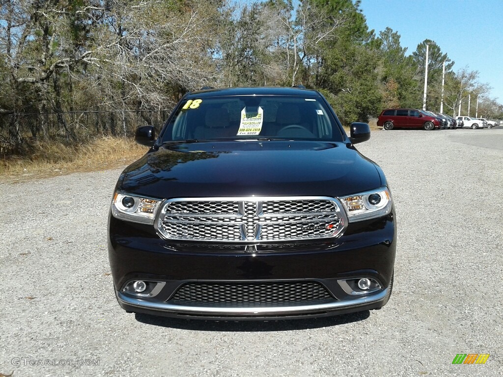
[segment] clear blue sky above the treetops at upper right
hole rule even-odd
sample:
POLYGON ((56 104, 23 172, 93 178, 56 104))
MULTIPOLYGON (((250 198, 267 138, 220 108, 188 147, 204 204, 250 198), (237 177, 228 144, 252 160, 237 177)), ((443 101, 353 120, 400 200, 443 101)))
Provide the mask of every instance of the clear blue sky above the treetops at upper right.
POLYGON ((478 81, 492 86, 489 97, 503 104, 503 0, 362 0, 360 8, 369 30, 398 32, 407 54, 435 41, 453 71, 479 71, 478 81))

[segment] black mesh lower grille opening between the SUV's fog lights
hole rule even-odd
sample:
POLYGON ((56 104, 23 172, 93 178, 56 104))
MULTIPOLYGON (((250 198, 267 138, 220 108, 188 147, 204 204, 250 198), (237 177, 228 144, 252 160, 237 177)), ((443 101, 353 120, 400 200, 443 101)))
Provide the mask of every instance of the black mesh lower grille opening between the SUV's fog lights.
POLYGON ((279 304, 333 300, 315 281, 188 283, 169 301, 175 305, 279 304))

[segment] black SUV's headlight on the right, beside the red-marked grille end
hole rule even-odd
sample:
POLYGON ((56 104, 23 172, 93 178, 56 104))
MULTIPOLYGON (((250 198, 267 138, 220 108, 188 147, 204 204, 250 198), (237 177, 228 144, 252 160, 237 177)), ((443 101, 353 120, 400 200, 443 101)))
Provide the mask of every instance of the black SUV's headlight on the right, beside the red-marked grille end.
POLYGON ((385 216, 391 212, 393 204, 386 187, 339 199, 348 213, 350 223, 385 216))

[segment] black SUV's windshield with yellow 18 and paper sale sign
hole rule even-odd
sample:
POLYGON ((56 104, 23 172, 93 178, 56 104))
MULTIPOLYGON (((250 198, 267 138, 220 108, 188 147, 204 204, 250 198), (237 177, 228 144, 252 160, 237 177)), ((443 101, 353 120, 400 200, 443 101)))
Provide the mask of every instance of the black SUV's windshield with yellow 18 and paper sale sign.
POLYGON ((343 141, 319 97, 192 97, 176 109, 162 142, 207 139, 343 141))

